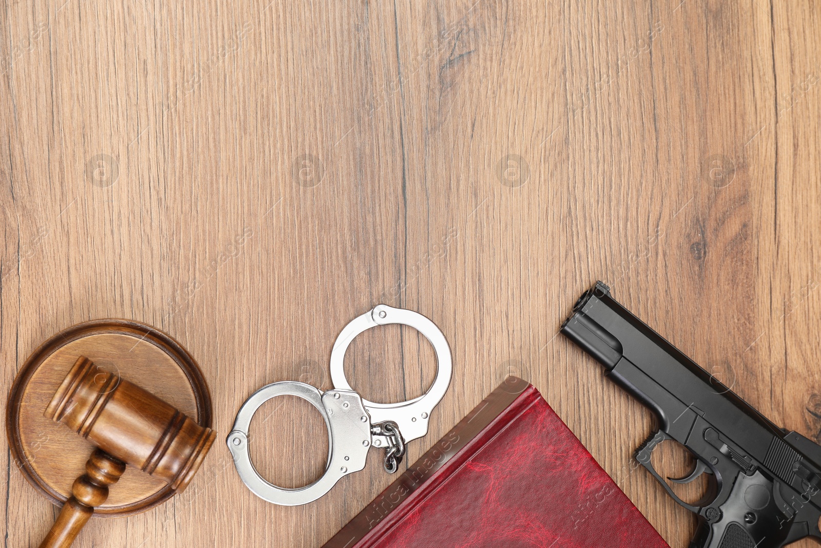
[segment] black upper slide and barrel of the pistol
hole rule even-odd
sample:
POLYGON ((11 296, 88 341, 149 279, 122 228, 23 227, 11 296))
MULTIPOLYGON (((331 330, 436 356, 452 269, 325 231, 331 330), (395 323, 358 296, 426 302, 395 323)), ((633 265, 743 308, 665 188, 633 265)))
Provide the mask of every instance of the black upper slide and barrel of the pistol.
POLYGON ((782 429, 621 306, 603 283, 579 298, 561 331, 682 443, 704 417, 761 463, 782 449, 782 429))

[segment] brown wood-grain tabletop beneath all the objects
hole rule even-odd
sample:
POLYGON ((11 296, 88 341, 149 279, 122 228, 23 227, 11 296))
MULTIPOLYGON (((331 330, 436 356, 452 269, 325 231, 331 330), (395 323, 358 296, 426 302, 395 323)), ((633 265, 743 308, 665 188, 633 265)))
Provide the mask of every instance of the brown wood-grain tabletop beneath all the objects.
MULTIPOLYGON (((356 315, 408 307, 443 329, 454 375, 406 462, 518 373, 680 548, 694 519, 631 465, 648 412, 555 337, 603 279, 818 439, 821 4, 334 5, 2 2, 4 391, 57 330, 133 318, 200 362, 224 440, 259 386, 328 388, 356 315)), ((433 367, 398 328, 346 361, 382 400, 433 367)), ((327 441, 286 403, 251 434, 268 477, 298 485, 327 441)), ((280 508, 220 440, 185 493, 76 546, 320 546, 392 480, 372 451, 280 508)), ((57 508, 0 465, 7 546, 34 546, 57 508)))

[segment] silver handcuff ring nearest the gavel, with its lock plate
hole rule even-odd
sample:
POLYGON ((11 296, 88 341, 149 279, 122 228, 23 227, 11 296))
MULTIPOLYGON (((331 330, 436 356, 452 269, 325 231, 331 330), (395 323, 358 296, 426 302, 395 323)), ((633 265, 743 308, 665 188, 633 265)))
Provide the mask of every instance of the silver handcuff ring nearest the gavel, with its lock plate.
POLYGON ((283 506, 307 504, 325 495, 342 477, 365 467, 371 441, 367 417, 362 398, 351 390, 328 390, 323 394, 314 386, 285 380, 264 386, 245 400, 236 413, 236 421, 226 443, 242 482, 260 499, 283 506), (325 472, 310 485, 296 489, 275 486, 266 481, 251 462, 248 450, 248 430, 255 413, 269 399, 285 395, 305 399, 313 405, 328 429, 325 472))

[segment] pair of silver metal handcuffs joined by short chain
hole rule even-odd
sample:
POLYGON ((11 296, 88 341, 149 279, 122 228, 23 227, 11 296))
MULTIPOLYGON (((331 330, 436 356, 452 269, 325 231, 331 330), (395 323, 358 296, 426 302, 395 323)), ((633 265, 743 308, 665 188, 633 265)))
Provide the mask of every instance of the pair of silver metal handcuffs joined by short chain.
POLYGON ((430 413, 451 383, 451 348, 442 331, 424 315, 378 305, 342 329, 333 343, 330 368, 333 389, 323 392, 296 380, 284 380, 251 394, 236 413, 236 421, 226 443, 234 458, 236 472, 245 486, 260 499, 283 506, 313 502, 328 493, 342 477, 362 470, 371 446, 385 449, 386 472, 397 472, 406 443, 428 433, 430 413), (345 377, 345 352, 358 334, 377 325, 391 324, 413 327, 428 339, 436 353, 436 378, 428 392, 418 398, 401 403, 369 402, 351 388, 345 377), (266 481, 251 463, 248 450, 248 428, 255 412, 269 399, 284 395, 303 398, 311 403, 322 415, 328 430, 325 472, 317 481, 296 489, 278 487, 266 481))

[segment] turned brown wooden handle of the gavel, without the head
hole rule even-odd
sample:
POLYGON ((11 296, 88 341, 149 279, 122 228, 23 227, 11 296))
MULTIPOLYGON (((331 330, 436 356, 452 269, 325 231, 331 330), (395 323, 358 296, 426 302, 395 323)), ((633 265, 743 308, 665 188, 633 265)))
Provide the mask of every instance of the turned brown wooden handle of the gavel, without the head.
POLYGON ((117 483, 126 471, 126 464, 102 449, 94 449, 85 463, 85 474, 71 486, 71 498, 62 505, 57 521, 40 548, 68 548, 89 521, 94 507, 108 499, 108 486, 117 483))

